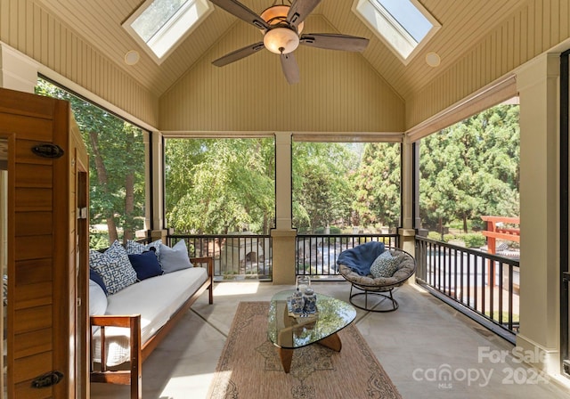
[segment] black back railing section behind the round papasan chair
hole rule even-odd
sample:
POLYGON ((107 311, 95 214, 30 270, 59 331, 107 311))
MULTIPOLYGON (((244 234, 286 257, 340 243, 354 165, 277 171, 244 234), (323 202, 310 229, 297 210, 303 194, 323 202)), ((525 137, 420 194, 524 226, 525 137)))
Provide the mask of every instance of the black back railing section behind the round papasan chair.
POLYGON ((397 234, 298 234, 296 244, 297 275, 315 279, 344 280, 338 275, 337 258, 348 248, 368 241, 381 241, 397 247, 397 234))

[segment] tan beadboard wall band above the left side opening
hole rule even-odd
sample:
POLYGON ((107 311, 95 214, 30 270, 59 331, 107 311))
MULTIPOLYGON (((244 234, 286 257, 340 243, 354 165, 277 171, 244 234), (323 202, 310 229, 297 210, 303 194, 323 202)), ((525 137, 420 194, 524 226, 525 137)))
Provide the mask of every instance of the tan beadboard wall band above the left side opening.
POLYGON ((0 2, 0 40, 151 126, 159 100, 31 0, 0 2))

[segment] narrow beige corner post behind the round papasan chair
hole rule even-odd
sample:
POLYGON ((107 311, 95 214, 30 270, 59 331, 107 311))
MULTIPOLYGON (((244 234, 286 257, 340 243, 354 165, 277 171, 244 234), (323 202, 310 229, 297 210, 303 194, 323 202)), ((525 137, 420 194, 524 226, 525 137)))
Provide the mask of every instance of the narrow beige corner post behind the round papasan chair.
POLYGON ((413 190, 413 157, 414 157, 414 146, 410 142, 408 136, 403 136, 401 151, 401 182, 402 188, 400 190, 400 201, 402 202, 402 226, 399 230, 400 234, 400 247, 409 252, 412 256, 415 252, 415 231, 414 231, 414 204, 415 200, 413 195, 415 190, 413 190))

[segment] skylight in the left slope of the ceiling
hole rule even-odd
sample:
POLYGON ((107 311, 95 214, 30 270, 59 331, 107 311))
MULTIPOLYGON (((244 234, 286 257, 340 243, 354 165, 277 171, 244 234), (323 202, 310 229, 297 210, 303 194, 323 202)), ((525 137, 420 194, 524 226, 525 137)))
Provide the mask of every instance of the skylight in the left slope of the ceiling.
POLYGON ((161 63, 211 11, 206 0, 146 0, 123 28, 161 63))

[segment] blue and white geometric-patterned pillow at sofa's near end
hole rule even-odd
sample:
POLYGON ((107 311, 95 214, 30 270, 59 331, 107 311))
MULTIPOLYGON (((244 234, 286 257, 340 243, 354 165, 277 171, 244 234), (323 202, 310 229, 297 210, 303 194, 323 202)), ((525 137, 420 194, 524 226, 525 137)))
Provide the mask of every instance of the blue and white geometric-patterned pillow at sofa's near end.
POLYGON ((110 295, 136 282, 136 272, 118 240, 104 253, 90 250, 89 267, 99 273, 110 295))

